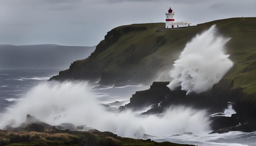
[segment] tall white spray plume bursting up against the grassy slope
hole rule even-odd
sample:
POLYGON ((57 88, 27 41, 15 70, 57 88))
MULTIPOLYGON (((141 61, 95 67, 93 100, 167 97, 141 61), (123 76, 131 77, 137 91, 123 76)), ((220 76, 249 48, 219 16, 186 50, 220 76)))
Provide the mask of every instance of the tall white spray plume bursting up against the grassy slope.
POLYGON ((229 40, 217 34, 215 25, 196 35, 174 62, 170 72, 174 80, 168 87, 174 90, 181 86, 187 94, 211 89, 233 66, 229 55, 225 54, 229 40))

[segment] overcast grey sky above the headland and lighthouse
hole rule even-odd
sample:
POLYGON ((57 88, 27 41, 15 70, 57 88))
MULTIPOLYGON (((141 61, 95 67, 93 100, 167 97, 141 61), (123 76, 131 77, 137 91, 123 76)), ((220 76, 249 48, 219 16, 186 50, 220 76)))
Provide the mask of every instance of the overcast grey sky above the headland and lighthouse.
POLYGON ((133 23, 200 24, 256 17, 256 0, 0 0, 0 44, 97 45, 111 29, 133 23))

